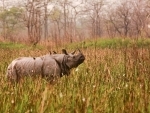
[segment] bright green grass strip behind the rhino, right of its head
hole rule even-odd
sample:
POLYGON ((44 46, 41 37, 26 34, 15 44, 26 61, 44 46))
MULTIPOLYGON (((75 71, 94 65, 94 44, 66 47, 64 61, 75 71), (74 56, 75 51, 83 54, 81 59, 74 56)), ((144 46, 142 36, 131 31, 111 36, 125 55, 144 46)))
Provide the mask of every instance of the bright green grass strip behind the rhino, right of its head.
POLYGON ((87 40, 79 43, 66 45, 66 48, 124 48, 124 47, 148 47, 150 39, 122 39, 122 38, 99 38, 96 40, 87 40))

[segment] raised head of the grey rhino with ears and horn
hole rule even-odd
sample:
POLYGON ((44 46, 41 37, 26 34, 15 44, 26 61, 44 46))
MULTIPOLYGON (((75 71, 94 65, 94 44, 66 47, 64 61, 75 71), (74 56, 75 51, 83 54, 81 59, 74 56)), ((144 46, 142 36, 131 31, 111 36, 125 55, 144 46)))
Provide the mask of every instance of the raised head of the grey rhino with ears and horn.
POLYGON ((77 54, 75 54, 76 50, 68 54, 65 49, 62 50, 62 53, 65 54, 65 64, 69 69, 77 67, 85 60, 85 56, 79 49, 77 54))

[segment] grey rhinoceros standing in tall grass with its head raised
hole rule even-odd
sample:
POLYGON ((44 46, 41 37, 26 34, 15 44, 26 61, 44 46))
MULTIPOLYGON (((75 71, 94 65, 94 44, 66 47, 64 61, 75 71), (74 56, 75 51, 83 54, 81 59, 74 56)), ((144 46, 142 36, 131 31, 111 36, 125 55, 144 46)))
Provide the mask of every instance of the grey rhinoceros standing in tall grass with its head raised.
POLYGON ((84 62, 85 56, 78 51, 77 54, 76 51, 68 54, 62 49, 62 54, 17 58, 9 64, 6 77, 18 82, 23 76, 41 75, 51 82, 55 78, 69 75, 72 68, 84 62))

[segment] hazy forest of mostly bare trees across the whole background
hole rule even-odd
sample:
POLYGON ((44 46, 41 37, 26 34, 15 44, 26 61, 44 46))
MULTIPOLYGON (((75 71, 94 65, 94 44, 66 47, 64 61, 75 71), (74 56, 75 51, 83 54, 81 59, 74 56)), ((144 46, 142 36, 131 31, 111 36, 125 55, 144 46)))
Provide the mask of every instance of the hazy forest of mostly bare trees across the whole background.
POLYGON ((0 38, 37 44, 150 37, 149 0, 0 0, 0 38))

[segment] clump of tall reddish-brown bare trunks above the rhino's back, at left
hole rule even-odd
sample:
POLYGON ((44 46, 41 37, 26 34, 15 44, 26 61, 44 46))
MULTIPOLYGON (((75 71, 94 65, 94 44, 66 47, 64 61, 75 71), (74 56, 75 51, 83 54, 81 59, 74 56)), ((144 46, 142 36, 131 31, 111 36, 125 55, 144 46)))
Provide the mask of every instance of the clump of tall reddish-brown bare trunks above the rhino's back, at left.
POLYGON ((28 0, 25 4, 24 21, 28 29, 30 43, 36 45, 41 39, 41 3, 28 0))

